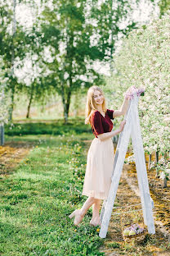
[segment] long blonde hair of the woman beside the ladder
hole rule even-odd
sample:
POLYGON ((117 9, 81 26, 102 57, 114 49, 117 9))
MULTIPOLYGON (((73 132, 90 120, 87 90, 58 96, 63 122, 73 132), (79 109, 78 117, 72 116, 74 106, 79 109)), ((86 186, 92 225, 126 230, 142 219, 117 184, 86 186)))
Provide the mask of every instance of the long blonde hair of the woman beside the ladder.
POLYGON ((105 96, 103 94, 103 91, 100 87, 98 87, 96 85, 93 85, 87 91, 87 103, 86 103, 86 108, 85 108, 85 124, 86 125, 90 124, 90 118, 92 116, 92 113, 97 110, 96 103, 95 103, 95 100, 93 98, 94 92, 96 90, 98 90, 103 95, 104 100, 103 100, 103 103, 102 103, 102 108, 103 108, 103 111, 106 112, 105 96))

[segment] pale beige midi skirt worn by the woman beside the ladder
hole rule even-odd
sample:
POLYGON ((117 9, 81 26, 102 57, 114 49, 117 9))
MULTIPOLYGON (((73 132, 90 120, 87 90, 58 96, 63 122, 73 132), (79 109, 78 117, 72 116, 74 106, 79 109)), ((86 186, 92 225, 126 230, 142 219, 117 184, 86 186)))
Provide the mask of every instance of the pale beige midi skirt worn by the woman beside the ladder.
POLYGON ((114 167, 114 144, 112 139, 92 140, 87 153, 87 167, 83 183, 83 195, 95 199, 107 199, 114 167))

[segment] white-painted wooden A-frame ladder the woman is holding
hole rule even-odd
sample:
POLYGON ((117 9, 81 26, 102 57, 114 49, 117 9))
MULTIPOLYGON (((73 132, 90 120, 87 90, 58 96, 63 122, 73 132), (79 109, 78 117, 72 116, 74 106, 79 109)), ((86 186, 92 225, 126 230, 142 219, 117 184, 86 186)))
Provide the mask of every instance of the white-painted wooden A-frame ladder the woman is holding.
POLYGON ((134 94, 133 98, 130 100, 128 112, 124 117, 124 120, 127 121, 126 125, 119 135, 119 142, 114 157, 114 170, 112 173, 110 193, 108 194, 107 200, 104 201, 101 209, 101 231, 99 233, 101 238, 105 238, 108 231, 111 213, 114 208, 114 199, 118 190, 119 180, 123 170, 123 163, 127 153, 130 137, 132 138, 132 147, 135 155, 136 172, 141 195, 141 206, 144 223, 147 226, 148 232, 150 234, 155 233, 154 217, 152 213, 153 201, 150 198, 150 189, 145 167, 145 154, 141 138, 141 127, 138 114, 138 100, 139 97, 137 94, 134 94))

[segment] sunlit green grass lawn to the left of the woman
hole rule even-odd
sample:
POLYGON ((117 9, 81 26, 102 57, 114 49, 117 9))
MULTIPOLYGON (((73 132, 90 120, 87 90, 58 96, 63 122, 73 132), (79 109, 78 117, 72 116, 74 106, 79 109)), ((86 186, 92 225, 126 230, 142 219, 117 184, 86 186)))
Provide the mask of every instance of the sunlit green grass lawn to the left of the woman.
POLYGON ((16 171, 1 176, 1 255, 103 255, 99 231, 89 225, 92 209, 80 227, 68 217, 87 199, 82 196, 87 158, 83 139, 93 138, 78 131, 70 134, 12 138, 35 144, 16 171))

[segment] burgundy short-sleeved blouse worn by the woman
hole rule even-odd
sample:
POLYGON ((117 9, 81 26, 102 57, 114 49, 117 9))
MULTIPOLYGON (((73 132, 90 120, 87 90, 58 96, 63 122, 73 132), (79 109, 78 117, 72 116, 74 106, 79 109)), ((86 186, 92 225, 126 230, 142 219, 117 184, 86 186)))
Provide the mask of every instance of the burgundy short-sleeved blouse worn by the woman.
POLYGON ((114 110, 107 109, 105 112, 105 117, 101 115, 101 112, 95 111, 92 113, 91 126, 92 133, 96 136, 102 133, 109 132, 113 129, 113 123, 110 119, 113 117, 114 110))

